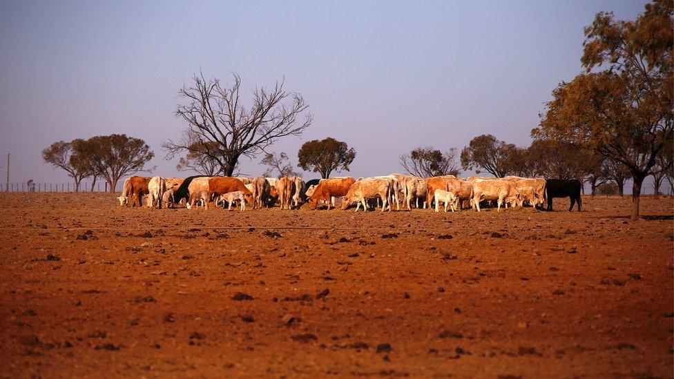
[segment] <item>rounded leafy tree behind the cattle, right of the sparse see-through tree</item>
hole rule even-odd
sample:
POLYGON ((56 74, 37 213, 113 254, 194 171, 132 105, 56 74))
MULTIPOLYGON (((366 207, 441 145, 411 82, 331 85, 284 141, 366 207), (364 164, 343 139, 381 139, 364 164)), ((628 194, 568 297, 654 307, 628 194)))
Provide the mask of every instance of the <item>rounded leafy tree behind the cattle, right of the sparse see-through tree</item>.
POLYGON ((495 177, 505 177, 517 172, 517 148, 514 144, 499 141, 493 135, 479 135, 470 140, 461 151, 461 166, 464 170, 482 170, 495 177))

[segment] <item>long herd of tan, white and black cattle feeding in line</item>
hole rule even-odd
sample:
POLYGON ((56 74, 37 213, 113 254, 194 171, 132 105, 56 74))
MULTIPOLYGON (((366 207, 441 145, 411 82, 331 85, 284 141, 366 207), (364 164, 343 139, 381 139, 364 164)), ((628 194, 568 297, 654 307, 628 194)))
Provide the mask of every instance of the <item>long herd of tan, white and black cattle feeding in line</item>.
POLYGON ((356 211, 363 206, 381 207, 381 211, 392 211, 392 206, 403 208, 432 208, 436 212, 440 204, 444 210, 474 208, 480 211, 484 206, 533 206, 552 210, 552 198, 570 197, 572 210, 577 203, 581 210, 581 182, 575 179, 542 179, 526 177, 468 177, 462 179, 454 175, 438 177, 416 177, 392 174, 354 179, 353 177, 331 177, 304 182, 300 177, 142 177, 132 176, 124 181, 119 204, 141 206, 145 196, 150 208, 173 207, 184 204, 186 208, 202 205, 209 208, 227 204, 229 209, 239 203, 244 211, 252 208, 271 207, 279 204, 281 209, 299 208, 309 203, 310 209, 318 206, 335 206, 336 198, 341 198, 341 208, 356 205, 356 211), (421 201, 421 204, 420 204, 421 201))

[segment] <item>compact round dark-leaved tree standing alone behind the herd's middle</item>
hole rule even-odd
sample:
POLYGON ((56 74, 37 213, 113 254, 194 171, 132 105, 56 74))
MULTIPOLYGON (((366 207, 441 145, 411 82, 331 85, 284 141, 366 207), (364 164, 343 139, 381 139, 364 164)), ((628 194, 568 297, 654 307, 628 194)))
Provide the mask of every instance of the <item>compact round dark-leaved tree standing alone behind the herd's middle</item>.
POLYGON ((298 166, 304 171, 320 173, 323 179, 330 177, 332 171, 349 171, 349 164, 356 159, 356 150, 349 148, 346 142, 332 137, 305 142, 297 153, 298 166))

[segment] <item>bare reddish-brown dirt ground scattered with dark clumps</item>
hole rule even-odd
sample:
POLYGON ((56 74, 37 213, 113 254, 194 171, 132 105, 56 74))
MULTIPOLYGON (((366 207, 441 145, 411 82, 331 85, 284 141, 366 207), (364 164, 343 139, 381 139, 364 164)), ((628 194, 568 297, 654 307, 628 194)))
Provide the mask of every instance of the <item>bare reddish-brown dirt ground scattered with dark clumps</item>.
POLYGON ((120 208, 0 194, 0 375, 673 376, 673 201, 120 208))

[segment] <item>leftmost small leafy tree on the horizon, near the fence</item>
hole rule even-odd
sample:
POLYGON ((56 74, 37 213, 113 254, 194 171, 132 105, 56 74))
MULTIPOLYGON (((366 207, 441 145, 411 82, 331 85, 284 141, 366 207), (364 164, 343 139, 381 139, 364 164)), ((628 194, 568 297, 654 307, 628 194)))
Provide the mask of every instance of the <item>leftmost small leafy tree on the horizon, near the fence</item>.
POLYGON ((69 177, 75 181, 75 191, 79 191, 82 179, 93 174, 93 168, 84 154, 76 150, 83 142, 75 139, 71 142, 54 142, 48 148, 42 150, 42 159, 52 166, 62 168, 69 177))

